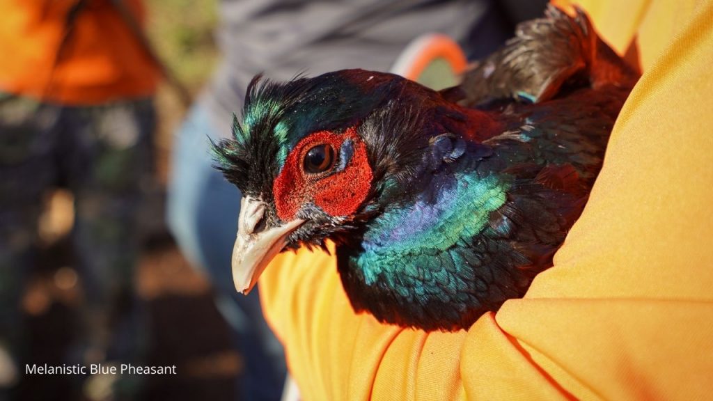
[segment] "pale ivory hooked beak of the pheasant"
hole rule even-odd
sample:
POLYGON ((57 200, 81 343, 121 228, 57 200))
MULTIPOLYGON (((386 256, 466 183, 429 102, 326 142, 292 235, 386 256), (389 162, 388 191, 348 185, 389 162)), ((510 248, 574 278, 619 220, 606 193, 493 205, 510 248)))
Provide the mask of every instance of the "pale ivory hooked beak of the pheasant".
POLYGON ((285 239, 304 220, 296 218, 269 230, 260 230, 265 202, 244 196, 240 200, 237 238, 232 248, 232 280, 239 293, 250 293, 272 258, 284 248, 285 239))

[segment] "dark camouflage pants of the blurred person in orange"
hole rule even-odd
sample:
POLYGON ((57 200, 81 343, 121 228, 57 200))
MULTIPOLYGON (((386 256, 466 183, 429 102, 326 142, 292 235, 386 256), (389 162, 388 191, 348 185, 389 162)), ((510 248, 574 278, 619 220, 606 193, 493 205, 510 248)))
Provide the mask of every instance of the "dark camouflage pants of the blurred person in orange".
POLYGON ((68 107, 0 94, 0 342, 11 352, 22 342, 20 301, 37 263, 43 196, 57 186, 75 199, 71 235, 84 293, 76 356, 133 352, 133 341, 117 335, 139 331, 135 215, 154 125, 150 99, 68 107))

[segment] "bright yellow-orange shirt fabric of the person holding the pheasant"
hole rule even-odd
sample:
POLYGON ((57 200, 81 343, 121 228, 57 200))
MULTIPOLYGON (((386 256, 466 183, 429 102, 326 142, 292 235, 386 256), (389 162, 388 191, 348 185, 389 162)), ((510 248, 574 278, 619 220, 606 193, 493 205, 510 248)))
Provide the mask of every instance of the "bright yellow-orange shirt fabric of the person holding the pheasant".
POLYGON ((260 290, 304 400, 712 397, 713 1, 582 5, 615 50, 637 38, 644 73, 554 267, 424 333, 356 315, 332 256, 279 255, 260 290))

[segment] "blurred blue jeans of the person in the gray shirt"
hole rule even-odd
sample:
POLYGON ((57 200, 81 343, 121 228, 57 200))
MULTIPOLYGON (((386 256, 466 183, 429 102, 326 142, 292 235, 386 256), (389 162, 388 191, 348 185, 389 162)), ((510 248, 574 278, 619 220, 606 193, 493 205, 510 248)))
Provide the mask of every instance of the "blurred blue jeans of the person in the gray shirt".
MULTIPOLYGON (((230 121, 226 122, 229 129, 230 121)), ((215 287, 216 303, 245 359, 237 383, 241 400, 279 400, 286 367, 282 347, 265 323, 257 290, 237 293, 230 270, 240 191, 212 168, 208 138, 218 138, 196 103, 173 146, 168 185, 168 225, 183 253, 215 287)))

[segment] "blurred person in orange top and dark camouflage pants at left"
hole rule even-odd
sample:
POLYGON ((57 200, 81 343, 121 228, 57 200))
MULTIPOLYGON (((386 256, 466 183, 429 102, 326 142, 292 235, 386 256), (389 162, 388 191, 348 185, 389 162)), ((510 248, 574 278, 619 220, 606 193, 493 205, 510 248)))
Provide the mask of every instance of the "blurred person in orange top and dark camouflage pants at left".
MULTIPOLYGON (((37 263, 43 197, 59 186, 74 196, 71 236, 84 297, 78 340, 65 362, 141 358, 135 216, 151 171, 159 70, 135 32, 144 17, 140 0, 0 0, 0 11, 3 400, 25 363, 46 363, 24 357, 20 304, 37 263)), ((113 399, 134 399, 135 385, 118 380, 113 399)))

